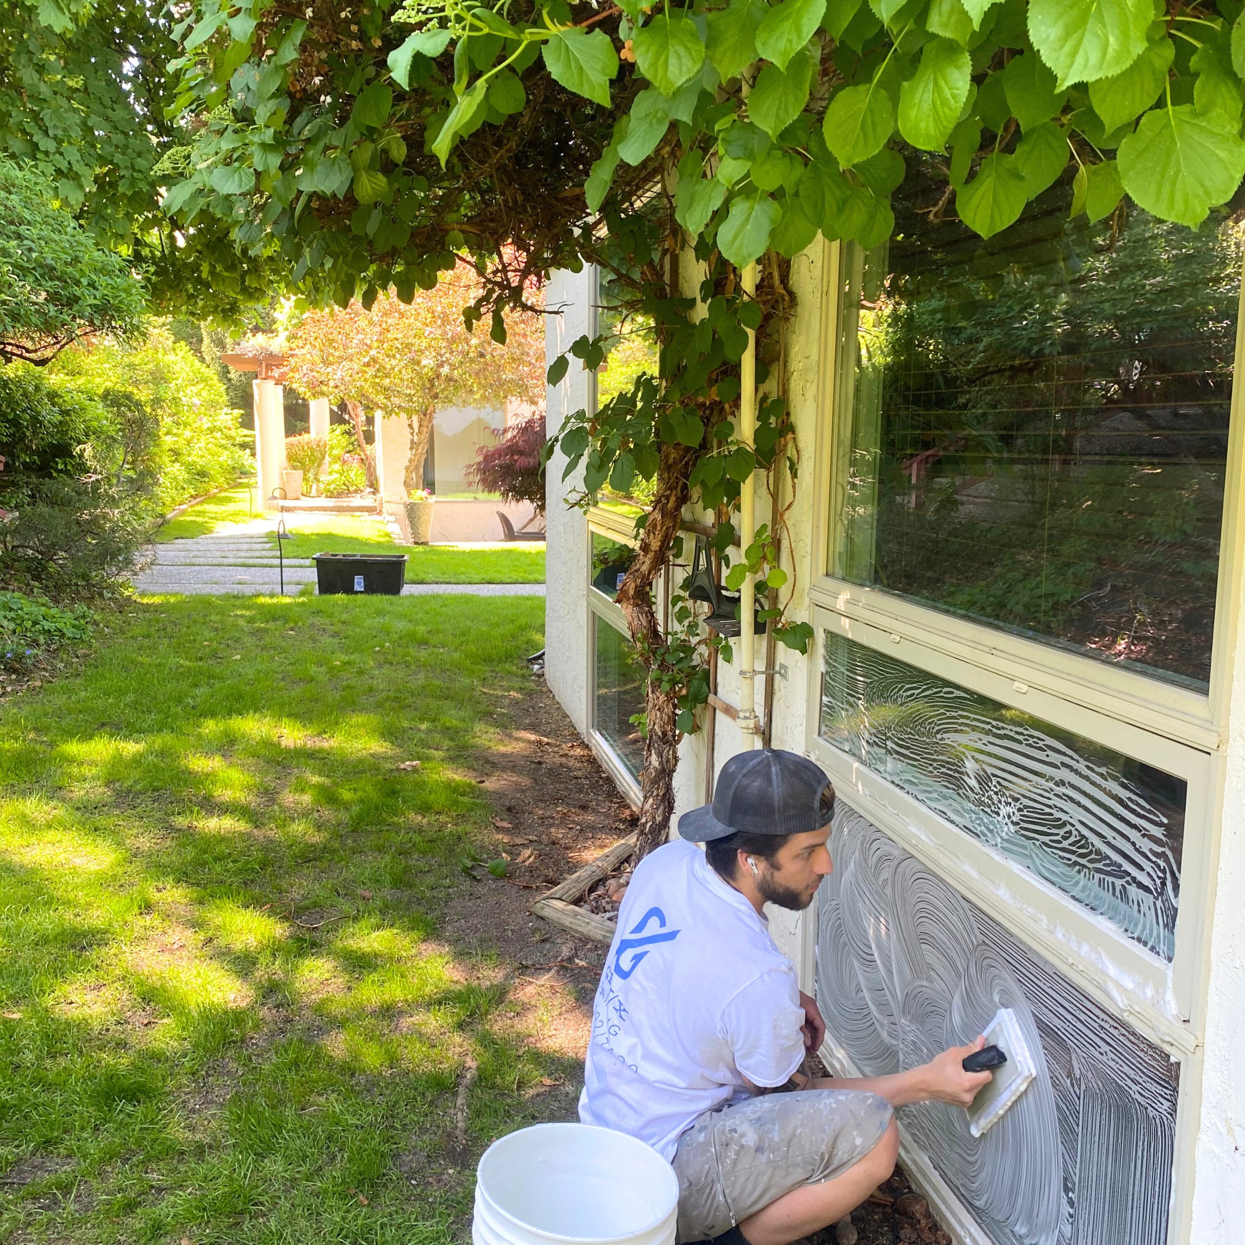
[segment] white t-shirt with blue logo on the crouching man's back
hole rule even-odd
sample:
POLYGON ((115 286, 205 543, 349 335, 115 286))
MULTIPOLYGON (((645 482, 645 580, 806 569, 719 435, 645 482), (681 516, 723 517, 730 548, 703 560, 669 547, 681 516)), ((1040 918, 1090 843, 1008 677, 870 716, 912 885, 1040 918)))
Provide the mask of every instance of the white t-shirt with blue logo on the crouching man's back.
POLYGON ((781 1086, 804 1058, 791 961, 763 916, 667 843, 636 868, 593 1006, 579 1118, 674 1158, 706 1111, 781 1086))

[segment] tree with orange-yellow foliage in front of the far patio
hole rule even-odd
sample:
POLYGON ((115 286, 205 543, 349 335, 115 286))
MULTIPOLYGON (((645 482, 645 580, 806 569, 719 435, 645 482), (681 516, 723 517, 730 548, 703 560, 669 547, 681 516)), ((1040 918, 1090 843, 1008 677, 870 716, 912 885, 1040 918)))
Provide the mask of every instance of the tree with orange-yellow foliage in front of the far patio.
POLYGON ((502 346, 463 321, 479 293, 479 278, 462 265, 408 303, 386 294, 370 308, 309 311, 286 336, 289 380, 299 392, 406 418, 408 491, 421 487, 437 407, 544 397, 540 319, 507 311, 502 346))

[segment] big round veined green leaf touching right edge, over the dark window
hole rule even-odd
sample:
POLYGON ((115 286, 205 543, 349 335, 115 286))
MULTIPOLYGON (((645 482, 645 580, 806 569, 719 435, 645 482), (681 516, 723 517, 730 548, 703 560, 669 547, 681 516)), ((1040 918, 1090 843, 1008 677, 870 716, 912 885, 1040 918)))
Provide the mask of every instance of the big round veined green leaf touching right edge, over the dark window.
POLYGON ((1119 177, 1134 203, 1163 220, 1198 225, 1245 174, 1245 142, 1223 113, 1191 103, 1153 108, 1119 144, 1119 177))

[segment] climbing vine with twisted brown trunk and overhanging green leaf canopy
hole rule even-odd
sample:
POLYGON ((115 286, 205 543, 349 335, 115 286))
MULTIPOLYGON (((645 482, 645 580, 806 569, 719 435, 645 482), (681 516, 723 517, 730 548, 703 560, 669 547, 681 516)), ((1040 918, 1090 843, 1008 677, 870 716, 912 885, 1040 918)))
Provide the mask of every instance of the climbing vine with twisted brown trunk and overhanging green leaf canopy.
MULTIPOLYGON (((1245 173, 1238 0, 407 0, 308 7, 195 0, 178 30, 187 176, 171 210, 214 222, 255 263, 279 255, 312 298, 407 298, 505 254, 472 312, 530 276, 598 263, 654 326, 656 371, 558 443, 586 494, 652 482, 619 604, 649 670, 641 839, 665 834, 679 735, 706 695, 686 601, 664 635, 652 583, 693 502, 718 522, 740 483, 782 469, 779 374, 757 436, 737 433, 741 361, 779 357, 787 260, 820 233, 894 229, 904 152, 942 178, 936 218, 991 238, 1074 167, 1077 213, 1195 227, 1245 173), (193 126, 193 131, 192 127, 193 126), (758 265, 756 293, 753 264, 758 265), (692 275, 695 273, 695 275, 692 275), (774 392, 774 391, 779 392, 774 392)), ((595 369, 604 339, 576 342, 595 369)), ((566 361, 555 365, 557 382, 566 361)), ((748 377, 751 383, 751 376, 748 377)), ((772 515, 781 527, 781 514, 772 515)), ((779 593, 771 529, 741 550, 779 593)), ((766 611, 786 641, 809 629, 766 611)))

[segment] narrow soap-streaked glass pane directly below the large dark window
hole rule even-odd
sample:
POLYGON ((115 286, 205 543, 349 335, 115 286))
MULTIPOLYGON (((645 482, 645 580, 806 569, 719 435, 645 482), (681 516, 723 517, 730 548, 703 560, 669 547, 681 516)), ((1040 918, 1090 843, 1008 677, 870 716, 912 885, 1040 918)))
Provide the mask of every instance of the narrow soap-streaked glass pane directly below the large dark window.
POLYGON ((832 632, 820 736, 1172 959, 1183 778, 832 632))

